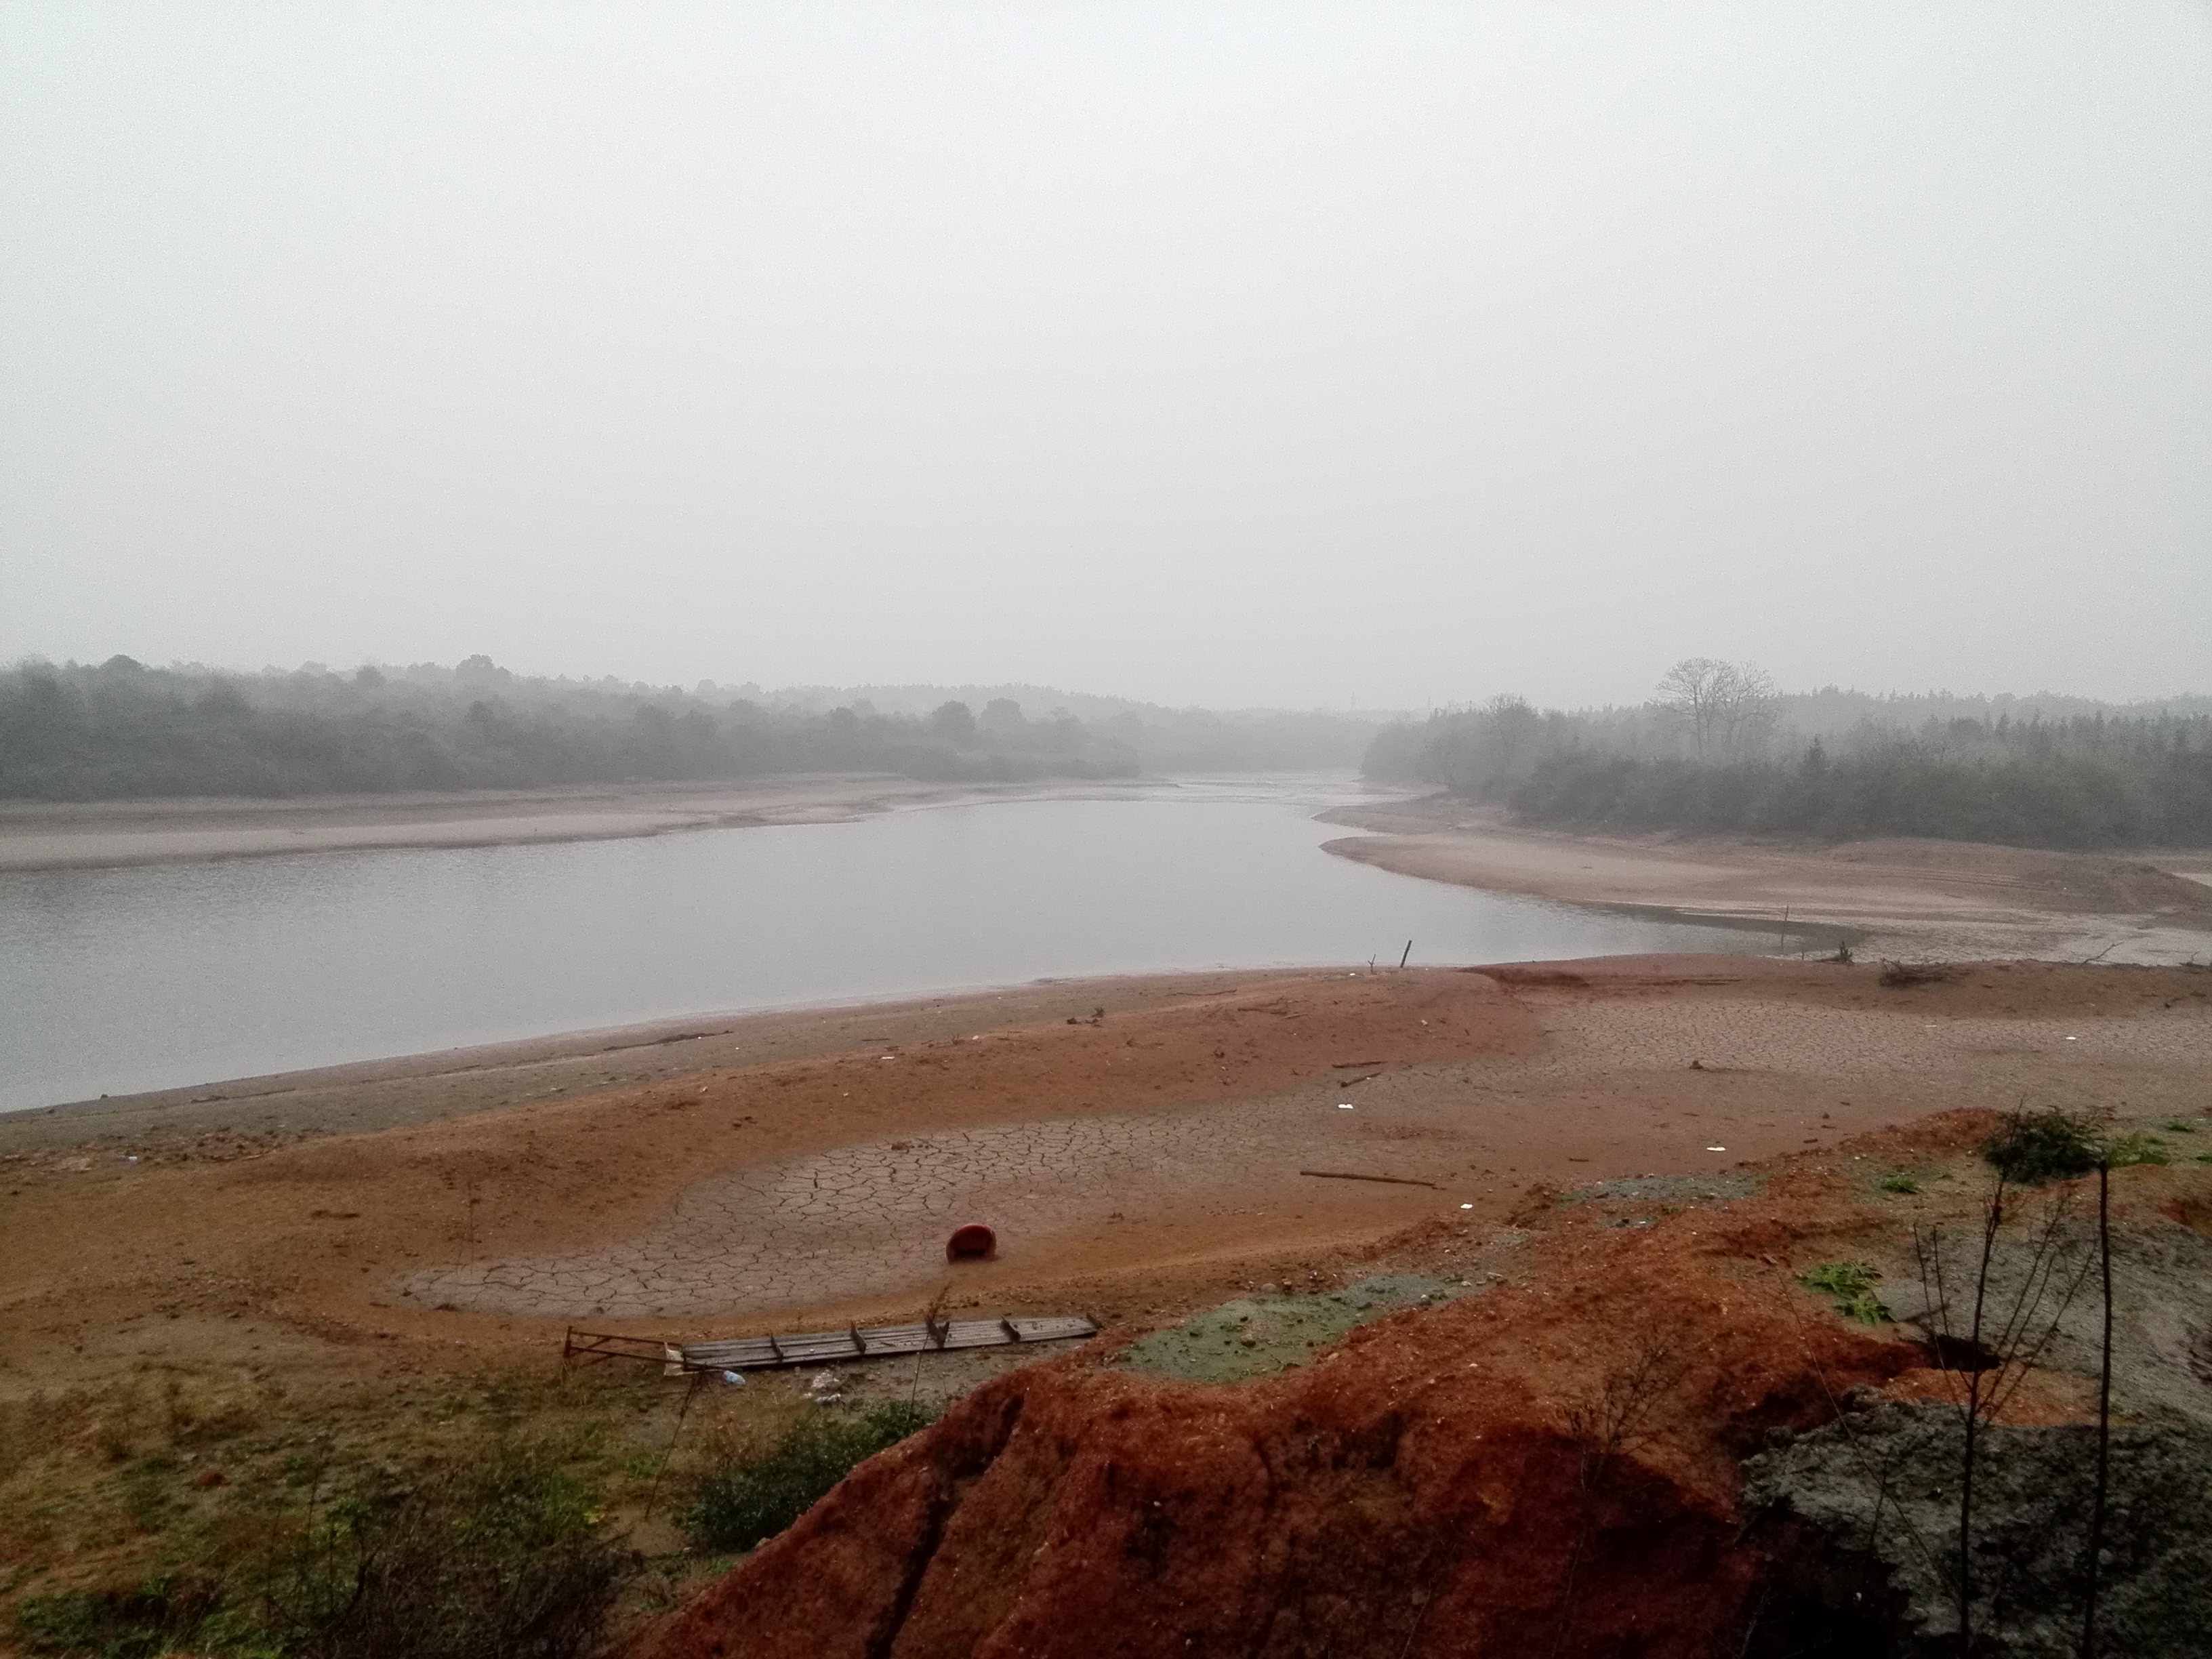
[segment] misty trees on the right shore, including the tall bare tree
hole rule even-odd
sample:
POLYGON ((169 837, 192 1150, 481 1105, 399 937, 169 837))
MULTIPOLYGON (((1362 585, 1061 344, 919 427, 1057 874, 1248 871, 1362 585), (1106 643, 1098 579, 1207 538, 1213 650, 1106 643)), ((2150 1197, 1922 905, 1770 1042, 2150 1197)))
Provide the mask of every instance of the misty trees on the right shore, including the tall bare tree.
POLYGON ((2132 714, 1927 708, 1944 701, 1783 697, 1759 670, 1692 659, 1639 710, 1537 712, 1498 697, 1385 728, 1365 770, 1568 830, 2212 845, 2205 699, 2132 714), (1898 706, 1920 719, 1882 719, 1898 706), (1836 710, 1858 717, 1807 730, 1836 710))

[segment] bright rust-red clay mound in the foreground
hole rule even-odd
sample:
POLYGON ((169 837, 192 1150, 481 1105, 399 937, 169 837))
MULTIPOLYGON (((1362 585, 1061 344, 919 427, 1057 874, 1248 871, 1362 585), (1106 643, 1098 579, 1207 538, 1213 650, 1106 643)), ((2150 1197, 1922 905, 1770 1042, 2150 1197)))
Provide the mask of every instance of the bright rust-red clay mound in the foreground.
MULTIPOLYGON (((1876 1225, 1851 1181, 1829 1152, 1650 1228, 1533 1208, 1513 1283, 1241 1387, 1009 1374, 628 1659, 1741 1655, 1772 1562, 1739 1460, 1924 1365, 1792 1279, 1876 1225)), ((1478 1243, 1425 1232, 1431 1261, 1478 1243)))

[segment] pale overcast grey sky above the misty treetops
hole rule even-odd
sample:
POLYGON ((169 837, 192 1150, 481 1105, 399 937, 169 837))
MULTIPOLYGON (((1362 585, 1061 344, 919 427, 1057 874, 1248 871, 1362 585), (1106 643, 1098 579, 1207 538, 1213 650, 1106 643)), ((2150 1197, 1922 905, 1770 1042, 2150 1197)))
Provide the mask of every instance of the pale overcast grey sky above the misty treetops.
POLYGON ((0 659, 2212 690, 2205 4, 0 7, 0 659))

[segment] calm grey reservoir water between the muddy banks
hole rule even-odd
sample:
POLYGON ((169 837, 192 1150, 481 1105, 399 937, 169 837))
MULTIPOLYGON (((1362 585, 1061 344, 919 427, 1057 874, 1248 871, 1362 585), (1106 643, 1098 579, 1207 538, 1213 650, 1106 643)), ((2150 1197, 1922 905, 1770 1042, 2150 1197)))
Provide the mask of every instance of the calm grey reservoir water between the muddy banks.
MULTIPOLYGON (((1340 796, 1343 799, 1343 796, 1340 796)), ((1035 978, 1759 949, 1321 852, 1252 785, 0 876, 0 1110, 1035 978)))

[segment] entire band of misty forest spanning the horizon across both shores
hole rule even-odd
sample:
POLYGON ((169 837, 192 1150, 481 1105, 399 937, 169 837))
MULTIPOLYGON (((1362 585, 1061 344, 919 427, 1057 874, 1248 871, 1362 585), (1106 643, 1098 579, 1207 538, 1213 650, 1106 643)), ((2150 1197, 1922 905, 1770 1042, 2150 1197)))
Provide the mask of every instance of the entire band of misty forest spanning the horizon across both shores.
POLYGON ((0 672, 0 796, 18 801, 1354 763, 1376 783, 1564 830, 2212 845, 2212 699, 1778 692, 1754 666, 1703 657, 1632 708, 1537 710, 1506 695, 1418 721, 1170 710, 1042 686, 684 690, 535 679, 489 657, 259 675, 111 657, 0 672))

